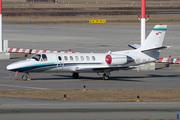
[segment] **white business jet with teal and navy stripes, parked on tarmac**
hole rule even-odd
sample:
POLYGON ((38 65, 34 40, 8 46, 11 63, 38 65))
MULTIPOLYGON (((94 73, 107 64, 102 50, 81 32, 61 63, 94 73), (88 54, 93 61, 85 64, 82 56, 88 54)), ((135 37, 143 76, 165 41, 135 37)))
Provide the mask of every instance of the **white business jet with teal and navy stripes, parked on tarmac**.
POLYGON ((26 60, 12 63, 7 70, 24 72, 22 79, 28 79, 31 72, 69 72, 73 78, 79 73, 101 73, 108 80, 110 72, 128 70, 137 65, 154 62, 159 59, 167 25, 156 25, 143 45, 133 50, 106 53, 38 53, 26 60))

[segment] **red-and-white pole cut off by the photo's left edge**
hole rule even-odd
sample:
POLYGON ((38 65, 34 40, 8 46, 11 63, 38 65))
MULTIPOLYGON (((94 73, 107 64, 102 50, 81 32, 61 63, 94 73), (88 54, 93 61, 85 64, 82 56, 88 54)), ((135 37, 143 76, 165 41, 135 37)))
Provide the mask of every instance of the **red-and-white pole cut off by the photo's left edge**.
POLYGON ((0 52, 3 52, 3 41, 2 41, 2 0, 0 0, 0 52))

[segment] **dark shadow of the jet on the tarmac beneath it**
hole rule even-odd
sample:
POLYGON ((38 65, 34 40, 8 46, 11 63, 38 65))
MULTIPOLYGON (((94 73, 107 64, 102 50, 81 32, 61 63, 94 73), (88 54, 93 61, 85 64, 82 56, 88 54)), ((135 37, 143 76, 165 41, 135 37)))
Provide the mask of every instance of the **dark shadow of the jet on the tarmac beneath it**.
MULTIPOLYGON (((55 78, 31 78, 31 80, 102 80, 101 76, 98 77, 85 77, 85 76, 80 76, 78 79, 72 78, 71 75, 54 75, 56 76, 55 78)), ((156 75, 156 74, 147 74, 144 76, 110 76, 109 80, 102 80, 102 81, 134 81, 134 82, 146 82, 143 80, 143 78, 174 78, 174 77, 180 77, 180 74, 178 75, 156 75)))

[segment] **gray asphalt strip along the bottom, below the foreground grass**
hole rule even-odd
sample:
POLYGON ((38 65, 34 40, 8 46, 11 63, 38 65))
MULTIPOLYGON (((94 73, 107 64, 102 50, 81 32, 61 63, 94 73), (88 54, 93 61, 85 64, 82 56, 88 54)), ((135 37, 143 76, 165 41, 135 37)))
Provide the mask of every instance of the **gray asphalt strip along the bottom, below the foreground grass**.
POLYGON ((72 102, 0 98, 1 119, 172 119, 179 102, 72 102))

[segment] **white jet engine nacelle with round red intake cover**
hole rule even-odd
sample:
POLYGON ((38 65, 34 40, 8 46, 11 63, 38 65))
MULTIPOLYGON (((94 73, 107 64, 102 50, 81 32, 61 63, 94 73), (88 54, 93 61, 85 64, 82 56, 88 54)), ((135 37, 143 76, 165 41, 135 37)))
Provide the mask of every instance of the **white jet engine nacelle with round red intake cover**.
POLYGON ((105 61, 109 65, 123 65, 123 64, 133 62, 134 59, 126 55, 109 54, 109 55, 106 55, 105 61))

